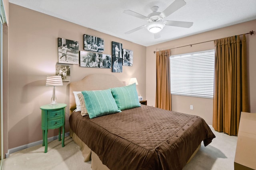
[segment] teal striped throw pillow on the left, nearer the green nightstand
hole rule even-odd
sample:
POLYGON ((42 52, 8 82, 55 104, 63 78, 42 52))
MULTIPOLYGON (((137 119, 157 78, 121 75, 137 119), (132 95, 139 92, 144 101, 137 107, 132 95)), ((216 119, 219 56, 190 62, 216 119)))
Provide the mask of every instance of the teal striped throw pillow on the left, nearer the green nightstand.
POLYGON ((82 94, 90 119, 120 112, 110 89, 82 91, 82 94))

